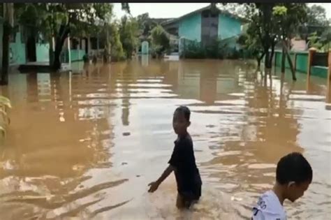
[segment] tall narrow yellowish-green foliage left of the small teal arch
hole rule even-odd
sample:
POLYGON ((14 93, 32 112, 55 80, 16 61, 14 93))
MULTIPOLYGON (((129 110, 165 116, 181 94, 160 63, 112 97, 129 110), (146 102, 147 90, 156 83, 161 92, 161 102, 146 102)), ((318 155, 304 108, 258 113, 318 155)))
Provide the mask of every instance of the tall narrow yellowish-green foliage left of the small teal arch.
POLYGON ((135 18, 122 17, 119 27, 119 36, 126 58, 131 59, 135 47, 138 45, 138 22, 135 18))

